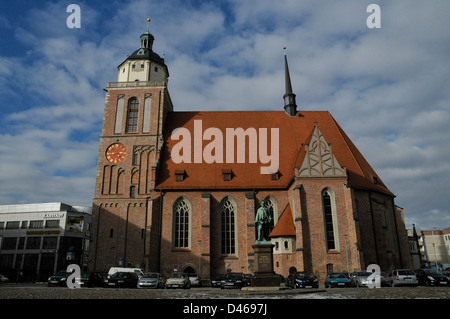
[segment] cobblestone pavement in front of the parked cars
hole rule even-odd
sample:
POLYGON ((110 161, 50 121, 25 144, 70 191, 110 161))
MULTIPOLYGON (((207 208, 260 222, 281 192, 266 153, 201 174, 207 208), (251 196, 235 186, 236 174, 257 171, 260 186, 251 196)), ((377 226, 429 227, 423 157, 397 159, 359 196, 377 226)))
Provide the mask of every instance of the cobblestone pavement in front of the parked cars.
POLYGON ((283 289, 278 291, 184 289, 117 289, 2 284, 0 299, 450 299, 450 287, 283 289))

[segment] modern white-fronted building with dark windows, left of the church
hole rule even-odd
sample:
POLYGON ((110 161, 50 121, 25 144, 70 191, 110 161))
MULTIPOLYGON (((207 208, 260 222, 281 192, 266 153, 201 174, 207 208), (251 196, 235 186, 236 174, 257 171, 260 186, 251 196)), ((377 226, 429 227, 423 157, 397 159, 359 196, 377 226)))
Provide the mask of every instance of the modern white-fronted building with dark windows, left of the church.
POLYGON ((46 281, 85 264, 92 208, 64 203, 0 205, 0 273, 11 281, 46 281))

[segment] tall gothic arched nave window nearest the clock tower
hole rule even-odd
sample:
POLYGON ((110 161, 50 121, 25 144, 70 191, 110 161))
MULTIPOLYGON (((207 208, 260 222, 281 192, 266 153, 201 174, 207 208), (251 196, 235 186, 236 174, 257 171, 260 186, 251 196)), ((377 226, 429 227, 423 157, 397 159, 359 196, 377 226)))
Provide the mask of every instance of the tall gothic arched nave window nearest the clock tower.
POLYGON ((175 248, 189 248, 190 205, 185 198, 179 198, 173 207, 173 246, 175 248))

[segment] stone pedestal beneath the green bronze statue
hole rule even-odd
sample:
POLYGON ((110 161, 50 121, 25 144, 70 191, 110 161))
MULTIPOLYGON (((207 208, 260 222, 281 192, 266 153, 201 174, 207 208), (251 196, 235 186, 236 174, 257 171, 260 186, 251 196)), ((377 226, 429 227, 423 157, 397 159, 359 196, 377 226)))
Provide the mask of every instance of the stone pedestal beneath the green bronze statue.
POLYGON ((271 242, 257 242, 252 247, 255 252, 252 287, 279 287, 280 278, 273 271, 274 245, 271 242))

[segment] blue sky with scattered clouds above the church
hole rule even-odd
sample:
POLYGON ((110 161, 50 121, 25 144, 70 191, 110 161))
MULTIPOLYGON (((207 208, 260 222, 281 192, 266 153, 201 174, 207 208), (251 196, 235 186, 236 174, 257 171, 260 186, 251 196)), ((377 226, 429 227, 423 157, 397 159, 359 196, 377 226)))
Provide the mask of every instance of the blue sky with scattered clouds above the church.
POLYGON ((332 114, 407 228, 450 227, 448 0, 0 0, 0 205, 92 205, 103 89, 148 17, 175 111, 282 110, 286 46, 298 109, 332 114))

